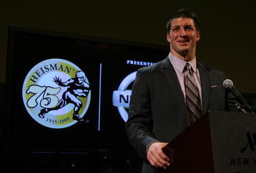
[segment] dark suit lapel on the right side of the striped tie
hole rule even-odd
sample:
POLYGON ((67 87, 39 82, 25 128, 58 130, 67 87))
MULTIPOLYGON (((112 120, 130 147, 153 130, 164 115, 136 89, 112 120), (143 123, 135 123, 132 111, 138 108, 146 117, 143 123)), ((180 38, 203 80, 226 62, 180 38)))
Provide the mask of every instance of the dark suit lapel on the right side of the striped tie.
POLYGON ((197 63, 200 73, 201 88, 202 88, 202 113, 205 114, 208 109, 210 96, 210 76, 207 69, 201 64, 197 63))

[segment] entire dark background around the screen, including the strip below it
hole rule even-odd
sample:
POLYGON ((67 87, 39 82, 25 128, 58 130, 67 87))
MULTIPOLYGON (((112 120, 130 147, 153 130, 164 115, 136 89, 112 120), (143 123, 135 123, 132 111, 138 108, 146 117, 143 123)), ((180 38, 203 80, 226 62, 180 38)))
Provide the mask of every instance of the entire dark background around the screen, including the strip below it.
MULTIPOLYGON (((200 16, 197 59, 222 70, 253 103, 256 15, 252 1, 3 0, 0 3, 1 89, 6 81, 10 25, 168 46, 165 23, 180 7, 188 7, 200 16)), ((1 108, 4 108, 3 95, 1 90, 1 108)), ((0 157, 4 160, 0 162, 0 172, 139 172, 140 169, 140 159, 132 152, 9 152, 0 153, 0 157)))

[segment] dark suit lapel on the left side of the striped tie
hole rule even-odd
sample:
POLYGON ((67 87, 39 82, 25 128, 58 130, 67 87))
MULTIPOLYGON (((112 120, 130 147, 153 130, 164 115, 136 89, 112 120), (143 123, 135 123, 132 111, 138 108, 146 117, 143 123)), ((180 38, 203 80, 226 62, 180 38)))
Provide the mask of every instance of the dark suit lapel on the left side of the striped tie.
POLYGON ((177 102, 179 103, 180 110, 184 115, 187 115, 187 108, 184 103, 184 95, 182 93, 182 88, 180 87, 179 80, 172 66, 172 63, 169 62, 168 57, 165 58, 162 63, 162 70, 165 77, 168 80, 170 90, 172 90, 172 92, 174 93, 174 97, 176 97, 177 102))

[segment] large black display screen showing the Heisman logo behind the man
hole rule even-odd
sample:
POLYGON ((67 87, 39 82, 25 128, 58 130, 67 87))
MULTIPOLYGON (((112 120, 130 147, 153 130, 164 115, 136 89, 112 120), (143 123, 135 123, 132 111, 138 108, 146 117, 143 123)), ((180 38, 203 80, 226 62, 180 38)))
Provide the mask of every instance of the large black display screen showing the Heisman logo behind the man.
POLYGON ((130 148, 124 123, 137 69, 167 54, 160 46, 9 28, 4 146, 130 148))

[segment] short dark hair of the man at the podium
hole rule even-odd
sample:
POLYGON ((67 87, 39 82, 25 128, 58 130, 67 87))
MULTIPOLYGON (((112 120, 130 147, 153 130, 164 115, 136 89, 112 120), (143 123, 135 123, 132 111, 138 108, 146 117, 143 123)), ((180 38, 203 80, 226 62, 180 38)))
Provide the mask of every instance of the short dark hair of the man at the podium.
POLYGON ((188 9, 179 9, 174 13, 172 18, 167 21, 167 25, 166 25, 167 33, 169 33, 170 29, 172 28, 172 20, 180 17, 193 19, 195 23, 195 28, 197 29, 197 31, 200 31, 200 21, 198 19, 197 14, 195 14, 194 11, 189 11, 188 9))

